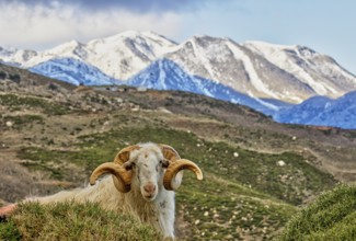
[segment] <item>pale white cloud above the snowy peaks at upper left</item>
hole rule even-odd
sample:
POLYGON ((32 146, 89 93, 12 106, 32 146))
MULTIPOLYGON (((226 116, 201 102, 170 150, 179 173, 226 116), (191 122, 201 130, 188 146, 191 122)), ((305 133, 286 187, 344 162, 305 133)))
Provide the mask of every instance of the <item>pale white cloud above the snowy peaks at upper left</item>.
POLYGON ((182 25, 174 12, 88 11, 59 1, 50 7, 0 3, 0 46, 4 47, 44 49, 70 39, 88 42, 127 30, 154 31, 174 39, 182 25))

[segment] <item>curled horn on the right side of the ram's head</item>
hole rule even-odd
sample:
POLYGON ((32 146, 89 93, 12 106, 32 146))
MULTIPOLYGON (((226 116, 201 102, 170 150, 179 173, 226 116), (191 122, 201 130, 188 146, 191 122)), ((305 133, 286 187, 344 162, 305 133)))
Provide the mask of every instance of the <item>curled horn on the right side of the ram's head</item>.
POLYGON ((180 159, 175 162, 171 162, 164 173, 163 185, 165 190, 176 190, 176 185, 172 183, 172 181, 174 180, 175 175, 184 169, 194 172, 197 180, 203 180, 203 172, 199 167, 197 167, 193 161, 180 159))

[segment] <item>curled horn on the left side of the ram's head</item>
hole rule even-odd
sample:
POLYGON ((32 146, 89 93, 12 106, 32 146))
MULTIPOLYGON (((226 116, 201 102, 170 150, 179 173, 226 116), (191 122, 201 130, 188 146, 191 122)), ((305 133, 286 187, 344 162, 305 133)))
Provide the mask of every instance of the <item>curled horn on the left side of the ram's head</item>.
POLYGON ((131 190, 131 171, 127 171, 124 167, 113 162, 106 162, 99 165, 90 176, 90 184, 94 185, 99 176, 111 173, 113 174, 113 180, 115 187, 118 192, 127 193, 131 190))

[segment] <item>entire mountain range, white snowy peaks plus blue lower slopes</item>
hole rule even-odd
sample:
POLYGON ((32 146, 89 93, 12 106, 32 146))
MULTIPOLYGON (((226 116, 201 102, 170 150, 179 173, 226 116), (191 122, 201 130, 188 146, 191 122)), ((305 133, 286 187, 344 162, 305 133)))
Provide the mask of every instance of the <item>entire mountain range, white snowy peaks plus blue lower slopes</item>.
POLYGON ((341 97, 356 90, 356 77, 298 45, 210 36, 176 44, 152 32, 128 31, 44 51, 0 47, 0 62, 74 84, 191 91, 248 105, 278 122, 356 128, 354 105, 343 105, 355 94, 341 97))

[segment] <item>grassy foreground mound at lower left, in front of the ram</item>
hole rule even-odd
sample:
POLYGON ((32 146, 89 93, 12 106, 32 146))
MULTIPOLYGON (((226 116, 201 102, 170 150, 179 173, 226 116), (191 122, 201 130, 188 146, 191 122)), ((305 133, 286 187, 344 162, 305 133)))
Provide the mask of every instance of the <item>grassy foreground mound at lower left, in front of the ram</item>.
POLYGON ((160 240, 152 227, 95 204, 21 204, 5 222, 0 240, 160 240))

